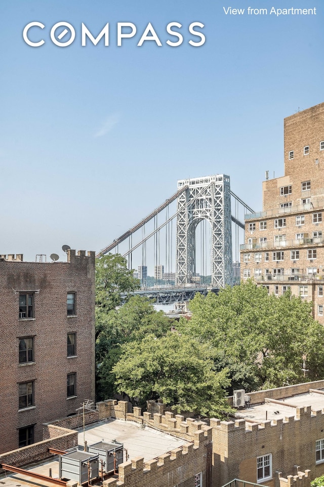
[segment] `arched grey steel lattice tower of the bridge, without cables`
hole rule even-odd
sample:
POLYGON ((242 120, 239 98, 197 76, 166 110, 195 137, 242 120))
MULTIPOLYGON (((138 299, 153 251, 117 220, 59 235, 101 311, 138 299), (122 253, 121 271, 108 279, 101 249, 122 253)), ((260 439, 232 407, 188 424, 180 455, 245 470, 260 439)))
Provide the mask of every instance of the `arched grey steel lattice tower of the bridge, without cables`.
POLYGON ((232 284, 231 191, 229 176, 216 174, 178 181, 176 283, 193 282, 195 230, 201 220, 211 225, 211 275, 213 287, 232 284))

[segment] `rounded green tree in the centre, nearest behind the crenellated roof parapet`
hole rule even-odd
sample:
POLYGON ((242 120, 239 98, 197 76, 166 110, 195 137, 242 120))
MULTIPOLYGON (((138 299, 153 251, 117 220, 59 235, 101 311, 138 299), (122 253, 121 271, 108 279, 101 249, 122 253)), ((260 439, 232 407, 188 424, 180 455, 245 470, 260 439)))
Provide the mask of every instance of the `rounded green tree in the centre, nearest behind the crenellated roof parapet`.
POLYGON ((162 399, 177 411, 224 416, 231 411, 225 398, 227 370, 215 372, 211 348, 185 335, 150 334, 125 343, 114 366, 116 385, 133 403, 162 399))

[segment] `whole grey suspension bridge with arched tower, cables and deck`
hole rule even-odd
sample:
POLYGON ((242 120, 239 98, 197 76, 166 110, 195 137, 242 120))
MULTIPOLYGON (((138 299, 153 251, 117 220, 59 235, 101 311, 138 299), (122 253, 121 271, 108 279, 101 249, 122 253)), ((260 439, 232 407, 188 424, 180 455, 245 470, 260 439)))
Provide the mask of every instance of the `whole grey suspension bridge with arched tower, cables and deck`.
POLYGON ((159 303, 217 292, 233 284, 246 213, 253 210, 231 191, 228 175, 180 180, 170 198, 96 257, 121 253, 138 270, 138 293, 159 303))

